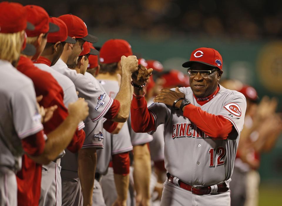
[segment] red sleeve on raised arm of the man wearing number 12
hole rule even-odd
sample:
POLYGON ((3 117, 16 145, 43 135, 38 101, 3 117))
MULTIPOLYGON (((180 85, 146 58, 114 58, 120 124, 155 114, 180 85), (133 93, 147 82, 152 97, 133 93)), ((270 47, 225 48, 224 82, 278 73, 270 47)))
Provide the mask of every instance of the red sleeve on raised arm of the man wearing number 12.
POLYGON ((145 97, 136 99, 134 96, 131 101, 131 127, 136 133, 155 131, 155 120, 147 108, 145 97))

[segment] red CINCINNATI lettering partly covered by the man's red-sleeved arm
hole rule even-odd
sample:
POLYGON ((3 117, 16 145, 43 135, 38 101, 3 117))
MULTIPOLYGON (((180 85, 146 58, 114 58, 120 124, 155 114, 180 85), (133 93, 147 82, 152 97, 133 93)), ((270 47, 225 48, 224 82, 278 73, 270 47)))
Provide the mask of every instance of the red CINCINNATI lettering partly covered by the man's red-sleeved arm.
POLYGON ((172 139, 181 137, 212 138, 192 123, 177 123, 172 125, 172 139))

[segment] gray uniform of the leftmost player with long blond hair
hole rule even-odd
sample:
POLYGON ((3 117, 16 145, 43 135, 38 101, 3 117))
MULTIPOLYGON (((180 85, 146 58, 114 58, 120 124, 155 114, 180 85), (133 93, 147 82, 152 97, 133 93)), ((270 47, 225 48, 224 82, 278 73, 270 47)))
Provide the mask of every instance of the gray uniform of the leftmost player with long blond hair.
POLYGON ((16 206, 15 172, 21 169, 24 153, 21 140, 43 130, 43 125, 32 81, 2 60, 0 99, 0 205, 16 206))

